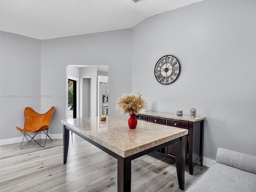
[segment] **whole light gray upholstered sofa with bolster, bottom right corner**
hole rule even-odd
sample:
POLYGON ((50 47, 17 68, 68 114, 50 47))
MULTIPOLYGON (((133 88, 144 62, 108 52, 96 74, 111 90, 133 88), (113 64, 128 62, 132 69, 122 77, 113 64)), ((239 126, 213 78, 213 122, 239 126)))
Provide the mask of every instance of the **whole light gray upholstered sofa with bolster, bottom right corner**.
POLYGON ((186 192, 256 192, 256 156, 218 148, 216 163, 186 192))

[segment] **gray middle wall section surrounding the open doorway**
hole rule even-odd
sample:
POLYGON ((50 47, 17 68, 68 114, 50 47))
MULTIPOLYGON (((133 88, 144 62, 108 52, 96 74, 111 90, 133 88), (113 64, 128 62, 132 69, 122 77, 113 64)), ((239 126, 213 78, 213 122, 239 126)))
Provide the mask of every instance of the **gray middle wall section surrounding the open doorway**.
POLYGON ((41 92, 52 97, 42 98, 41 107, 56 108, 50 134, 61 134, 60 120, 66 118, 67 65, 108 65, 109 114, 122 116, 116 111, 115 102, 122 93, 132 91, 131 40, 132 29, 42 41, 41 92))

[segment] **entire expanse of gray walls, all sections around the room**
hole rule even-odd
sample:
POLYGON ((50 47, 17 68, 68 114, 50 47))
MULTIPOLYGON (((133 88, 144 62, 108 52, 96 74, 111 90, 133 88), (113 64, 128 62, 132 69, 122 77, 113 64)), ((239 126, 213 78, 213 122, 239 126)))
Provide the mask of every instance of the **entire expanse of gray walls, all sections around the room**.
POLYGON ((189 114, 194 107, 207 118, 204 157, 215 159, 218 147, 256 155, 255 8, 256 1, 203 1, 133 29, 43 41, 1 32, 1 94, 52 96, 1 98, 0 138, 19 136, 15 125, 22 124, 24 108, 40 110, 40 102, 41 112, 56 107, 49 132, 62 134, 66 66, 102 63, 109 66, 109 114, 122 116, 115 102, 125 92, 140 92, 148 110, 189 114), (168 86, 154 77, 157 60, 166 54, 182 66, 180 78, 168 86))

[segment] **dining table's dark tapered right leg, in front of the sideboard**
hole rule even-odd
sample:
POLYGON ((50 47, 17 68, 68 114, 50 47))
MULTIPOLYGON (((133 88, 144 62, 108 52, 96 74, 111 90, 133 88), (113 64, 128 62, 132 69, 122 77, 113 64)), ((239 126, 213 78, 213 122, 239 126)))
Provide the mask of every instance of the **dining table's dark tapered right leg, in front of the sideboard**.
POLYGON ((184 190, 184 180, 185 180, 185 136, 181 137, 181 140, 176 142, 176 169, 178 176, 178 184, 181 190, 184 190))

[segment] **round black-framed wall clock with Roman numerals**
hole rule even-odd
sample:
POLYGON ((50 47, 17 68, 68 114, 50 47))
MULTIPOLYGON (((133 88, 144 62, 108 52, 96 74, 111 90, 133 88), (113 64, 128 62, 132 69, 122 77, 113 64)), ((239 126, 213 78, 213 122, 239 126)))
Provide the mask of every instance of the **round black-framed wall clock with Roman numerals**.
POLYGON ((155 66, 155 77, 161 84, 173 83, 180 74, 180 62, 172 55, 161 57, 155 66))

